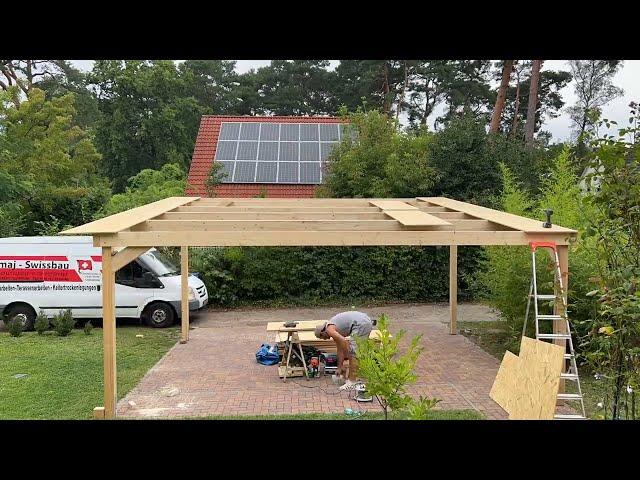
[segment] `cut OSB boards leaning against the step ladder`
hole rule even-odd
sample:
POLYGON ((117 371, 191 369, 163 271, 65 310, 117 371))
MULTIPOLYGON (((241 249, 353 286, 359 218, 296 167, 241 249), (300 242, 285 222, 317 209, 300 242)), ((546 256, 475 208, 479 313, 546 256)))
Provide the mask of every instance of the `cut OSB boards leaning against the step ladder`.
POLYGON ((520 356, 505 353, 489 395, 511 420, 552 420, 563 361, 562 347, 523 337, 520 356))

